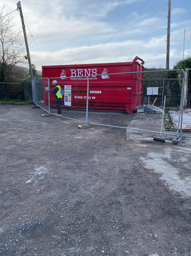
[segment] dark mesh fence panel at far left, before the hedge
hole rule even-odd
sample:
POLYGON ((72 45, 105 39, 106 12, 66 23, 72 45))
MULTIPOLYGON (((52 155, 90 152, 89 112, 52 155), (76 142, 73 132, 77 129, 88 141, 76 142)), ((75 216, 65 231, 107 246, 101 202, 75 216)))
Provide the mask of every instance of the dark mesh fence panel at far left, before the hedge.
POLYGON ((12 102, 24 100, 22 83, 0 83, 0 101, 12 102))

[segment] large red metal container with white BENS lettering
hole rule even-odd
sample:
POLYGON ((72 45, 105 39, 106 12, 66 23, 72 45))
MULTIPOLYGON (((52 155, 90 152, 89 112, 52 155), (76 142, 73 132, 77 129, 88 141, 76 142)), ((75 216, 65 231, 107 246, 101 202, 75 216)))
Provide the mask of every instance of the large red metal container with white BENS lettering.
MULTIPOLYGON (((89 78, 89 110, 126 111, 132 113, 142 104, 143 73, 116 74, 125 72, 143 72, 144 61, 136 56, 133 62, 100 63, 42 66, 42 77, 50 79, 50 89, 53 88, 53 78, 64 90, 71 85, 71 106, 66 106, 63 97, 61 106, 73 109, 86 109, 87 78, 89 78), (142 63, 138 62, 138 59, 142 63), (101 76, 98 76, 101 74, 101 76), (70 78, 67 78, 70 77, 70 78)), ((43 88, 44 102, 47 102, 48 92, 43 88)), ((50 94, 50 107, 55 106, 55 98, 50 94)))

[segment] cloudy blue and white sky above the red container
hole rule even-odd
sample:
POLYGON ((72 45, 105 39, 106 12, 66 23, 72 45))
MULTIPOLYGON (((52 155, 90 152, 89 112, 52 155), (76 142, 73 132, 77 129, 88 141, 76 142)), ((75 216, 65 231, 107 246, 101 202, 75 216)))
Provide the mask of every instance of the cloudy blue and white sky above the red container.
MULTIPOLYGON (((6 1, 5 14, 16 9, 16 2, 6 1)), ((171 68, 183 57, 184 29, 185 56, 191 56, 191 1, 172 2, 171 68)), ((4 3, 0 0, 0 7, 4 3)), ((42 65, 132 61, 138 55, 148 68, 165 68, 167 3, 168 0, 21 0, 24 18, 42 56, 26 28, 32 63, 41 70, 42 65)), ((13 17, 16 27, 21 28, 17 11, 13 17)))

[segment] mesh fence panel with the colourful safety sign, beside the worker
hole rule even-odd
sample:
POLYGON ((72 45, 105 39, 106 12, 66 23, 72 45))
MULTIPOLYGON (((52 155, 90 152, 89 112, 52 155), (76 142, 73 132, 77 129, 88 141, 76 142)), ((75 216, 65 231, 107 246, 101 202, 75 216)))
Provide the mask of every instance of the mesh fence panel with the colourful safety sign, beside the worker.
MULTIPOLYGON (((87 76, 50 78, 50 89, 56 80, 62 89, 62 116, 80 122, 86 121, 87 76)), ((55 96, 50 93, 50 113, 57 112, 55 96)))

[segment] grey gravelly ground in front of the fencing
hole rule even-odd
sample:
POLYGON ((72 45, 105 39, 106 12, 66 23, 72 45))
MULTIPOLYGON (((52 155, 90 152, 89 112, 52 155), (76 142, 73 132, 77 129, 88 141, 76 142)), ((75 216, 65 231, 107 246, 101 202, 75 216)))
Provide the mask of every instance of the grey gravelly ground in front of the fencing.
POLYGON ((190 198, 138 161, 144 147, 42 113, 0 106, 0 255, 191 255, 190 198))

